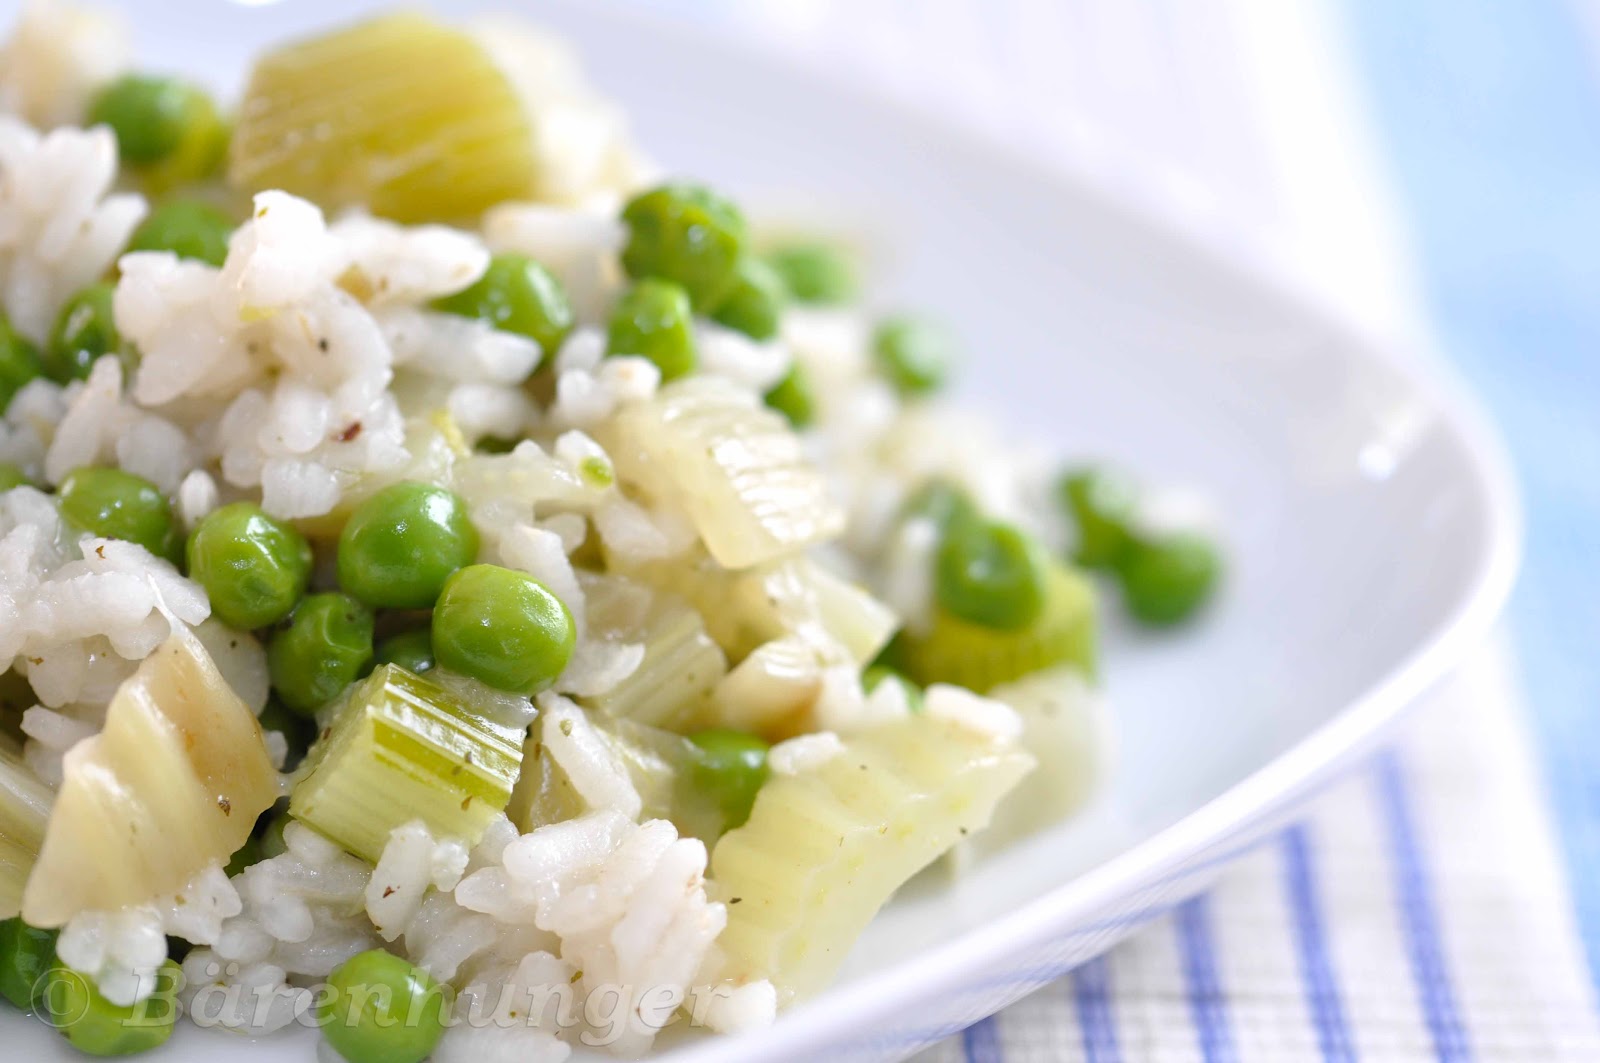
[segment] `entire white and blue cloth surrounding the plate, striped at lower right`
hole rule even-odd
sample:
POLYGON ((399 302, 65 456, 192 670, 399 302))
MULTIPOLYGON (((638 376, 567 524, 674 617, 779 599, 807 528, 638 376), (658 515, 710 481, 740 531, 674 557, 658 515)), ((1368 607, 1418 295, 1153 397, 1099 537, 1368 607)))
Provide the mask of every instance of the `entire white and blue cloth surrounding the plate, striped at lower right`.
POLYGON ((1512 629, 1390 749, 920 1058, 1600 1060, 1600 874, 1576 921, 1566 877, 1600 872, 1600 0, 634 2, 1086 173, 1368 330, 1437 335, 1523 474, 1512 629))

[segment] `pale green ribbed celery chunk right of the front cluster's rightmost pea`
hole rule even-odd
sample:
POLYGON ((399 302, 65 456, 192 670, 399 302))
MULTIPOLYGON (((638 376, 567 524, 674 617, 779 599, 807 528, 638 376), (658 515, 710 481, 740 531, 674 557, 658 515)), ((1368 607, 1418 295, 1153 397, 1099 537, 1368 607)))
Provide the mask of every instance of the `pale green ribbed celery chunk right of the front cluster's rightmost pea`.
POLYGON ((701 615, 678 597, 662 596, 643 624, 645 658, 589 708, 651 727, 682 730, 728 674, 728 658, 706 634, 701 615))

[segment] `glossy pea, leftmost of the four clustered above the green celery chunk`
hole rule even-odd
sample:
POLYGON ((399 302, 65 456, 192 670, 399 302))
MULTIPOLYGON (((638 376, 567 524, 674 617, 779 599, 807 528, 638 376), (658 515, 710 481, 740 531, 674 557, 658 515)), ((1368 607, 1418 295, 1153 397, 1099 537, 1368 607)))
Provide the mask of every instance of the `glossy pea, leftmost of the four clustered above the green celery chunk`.
POLYGON ((250 631, 290 615, 310 580, 310 544, 253 503, 214 509, 189 535, 189 576, 211 612, 250 631))

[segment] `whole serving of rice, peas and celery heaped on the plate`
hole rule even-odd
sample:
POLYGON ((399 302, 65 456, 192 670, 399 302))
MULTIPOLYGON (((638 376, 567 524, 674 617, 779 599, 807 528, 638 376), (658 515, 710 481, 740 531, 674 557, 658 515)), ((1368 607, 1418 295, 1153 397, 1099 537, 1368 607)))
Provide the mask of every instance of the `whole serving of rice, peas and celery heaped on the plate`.
POLYGON ((35 3, 0 110, 0 996, 86 1053, 771 1023, 1090 796, 1102 588, 1218 583, 528 27, 381 16, 224 107, 35 3))

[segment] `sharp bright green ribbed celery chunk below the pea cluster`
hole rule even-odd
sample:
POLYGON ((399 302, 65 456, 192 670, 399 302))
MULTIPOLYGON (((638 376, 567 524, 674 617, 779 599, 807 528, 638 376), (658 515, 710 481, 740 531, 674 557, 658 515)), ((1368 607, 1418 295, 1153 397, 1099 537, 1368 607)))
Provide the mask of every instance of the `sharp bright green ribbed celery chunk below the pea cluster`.
POLYGON ((510 800, 522 738, 438 684, 384 664, 346 695, 312 746, 290 815, 373 863, 410 820, 475 844, 510 800))

